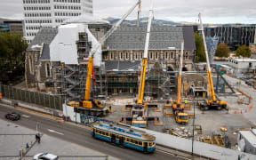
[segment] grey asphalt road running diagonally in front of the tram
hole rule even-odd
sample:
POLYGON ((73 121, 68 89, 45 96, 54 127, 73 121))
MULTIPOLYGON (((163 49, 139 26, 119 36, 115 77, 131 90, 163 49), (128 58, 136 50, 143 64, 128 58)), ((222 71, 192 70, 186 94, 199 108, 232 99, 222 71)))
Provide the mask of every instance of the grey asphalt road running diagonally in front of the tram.
MULTIPOLYGON (((36 122, 39 123, 39 132, 43 132, 52 137, 67 140, 72 143, 76 143, 78 145, 84 146, 86 148, 91 148, 93 150, 97 150, 103 154, 108 156, 114 156, 119 159, 124 160, 137 160, 137 159, 147 159, 147 160, 172 160, 172 159, 180 159, 177 156, 169 155, 168 153, 164 153, 156 150, 151 154, 144 154, 139 151, 130 149, 130 148, 120 148, 111 143, 105 143, 102 140, 96 140, 92 138, 90 130, 78 127, 74 124, 61 123, 56 120, 52 120, 50 118, 44 116, 37 116, 35 114, 30 114, 28 112, 24 112, 20 109, 16 108, 7 108, 3 104, 0 103, 0 118, 4 119, 4 115, 6 113, 11 112, 20 113, 21 119, 19 121, 13 121, 14 124, 19 124, 30 129, 36 130, 36 122), (54 132, 49 132, 50 130, 54 130, 55 132, 60 132, 62 134, 56 134, 54 132)), ((44 143, 44 141, 42 141, 44 143)))

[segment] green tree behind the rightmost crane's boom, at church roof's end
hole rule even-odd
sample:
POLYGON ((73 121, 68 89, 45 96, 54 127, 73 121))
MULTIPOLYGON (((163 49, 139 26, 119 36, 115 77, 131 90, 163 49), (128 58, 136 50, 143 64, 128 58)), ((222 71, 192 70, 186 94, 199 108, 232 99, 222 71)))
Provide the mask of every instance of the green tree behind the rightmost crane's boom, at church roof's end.
POLYGON ((205 52, 204 52, 204 41, 201 35, 195 33, 195 42, 196 42, 196 63, 205 62, 205 52))

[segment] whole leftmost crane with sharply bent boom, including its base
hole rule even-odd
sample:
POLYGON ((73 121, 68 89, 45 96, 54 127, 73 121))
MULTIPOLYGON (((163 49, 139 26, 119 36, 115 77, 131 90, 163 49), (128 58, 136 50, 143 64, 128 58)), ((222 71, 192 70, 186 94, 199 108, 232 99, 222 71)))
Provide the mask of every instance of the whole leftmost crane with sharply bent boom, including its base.
POLYGON ((82 111, 84 114, 92 116, 103 116, 108 113, 108 107, 102 105, 100 100, 93 100, 91 97, 93 56, 95 52, 100 50, 101 45, 104 44, 108 37, 111 36, 121 25, 121 23, 132 13, 137 5, 139 5, 138 19, 140 19, 140 4, 141 0, 138 0, 136 4, 132 5, 132 8, 128 12, 126 12, 124 16, 120 20, 118 20, 116 24, 114 24, 113 27, 110 28, 104 36, 100 38, 99 45, 97 45, 95 49, 92 49, 91 52, 89 52, 84 100, 80 100, 79 102, 70 101, 68 103, 68 105, 76 108, 76 111, 82 111))

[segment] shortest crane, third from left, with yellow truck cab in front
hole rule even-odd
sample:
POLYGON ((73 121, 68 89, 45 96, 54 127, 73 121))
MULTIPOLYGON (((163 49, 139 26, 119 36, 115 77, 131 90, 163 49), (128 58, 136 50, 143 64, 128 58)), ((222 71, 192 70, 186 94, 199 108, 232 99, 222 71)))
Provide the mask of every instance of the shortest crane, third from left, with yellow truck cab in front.
POLYGON ((184 112, 184 105, 181 104, 181 88, 182 88, 182 65, 183 65, 183 50, 184 41, 181 41, 181 53, 180 53, 180 63, 179 63, 179 79, 178 79, 178 92, 177 100, 172 101, 172 112, 175 117, 176 123, 186 124, 188 123, 188 113, 184 112))

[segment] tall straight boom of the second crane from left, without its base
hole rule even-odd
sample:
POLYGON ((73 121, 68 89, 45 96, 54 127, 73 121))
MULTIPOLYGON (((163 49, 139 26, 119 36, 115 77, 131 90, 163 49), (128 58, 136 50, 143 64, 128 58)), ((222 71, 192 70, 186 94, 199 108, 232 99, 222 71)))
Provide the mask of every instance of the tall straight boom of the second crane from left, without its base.
POLYGON ((148 28, 147 28, 146 43, 145 43, 144 55, 143 55, 143 60, 142 60, 142 68, 141 68, 141 73, 140 73, 141 74, 140 75, 140 89, 139 89, 137 104, 142 104, 143 97, 144 97, 145 79, 146 79, 146 72, 147 72, 147 66, 148 66, 149 36, 150 36, 151 22, 152 22, 152 17, 153 17, 153 3, 154 3, 154 0, 151 0, 149 16, 148 16, 148 28))

